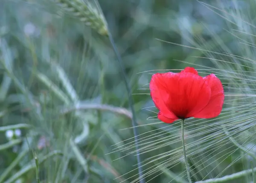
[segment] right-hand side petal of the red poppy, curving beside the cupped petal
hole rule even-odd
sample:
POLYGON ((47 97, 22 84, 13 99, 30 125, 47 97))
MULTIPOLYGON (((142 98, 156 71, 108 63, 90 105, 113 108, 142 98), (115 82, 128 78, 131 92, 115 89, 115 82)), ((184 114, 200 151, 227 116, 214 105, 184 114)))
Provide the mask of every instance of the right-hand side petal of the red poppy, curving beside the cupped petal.
POLYGON ((214 118, 221 113, 224 103, 224 89, 221 81, 214 74, 204 77, 204 80, 207 81, 211 88, 211 98, 207 106, 193 117, 214 118))

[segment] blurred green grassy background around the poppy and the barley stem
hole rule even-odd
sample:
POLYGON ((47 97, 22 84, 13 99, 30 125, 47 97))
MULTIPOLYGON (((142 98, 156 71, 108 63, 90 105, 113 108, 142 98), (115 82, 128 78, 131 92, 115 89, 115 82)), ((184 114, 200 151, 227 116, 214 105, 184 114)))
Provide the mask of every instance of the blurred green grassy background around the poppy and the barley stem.
MULTIPOLYGON (((253 59, 255 3, 99 0, 99 5, 132 86, 145 180, 186 183, 180 124, 149 118, 157 112, 148 90, 151 75, 195 67, 201 76, 215 73, 221 78, 227 94, 253 94, 255 63, 216 53, 253 59)), ((221 119, 203 120, 201 134, 198 126, 189 128, 187 143, 210 138, 189 150, 201 153, 189 156, 194 182, 255 163, 230 145, 222 128, 206 127, 212 122, 236 124, 237 111, 247 112, 236 105, 241 100, 230 97, 221 119)), ((243 124, 250 121, 241 119, 243 124)), ((252 149, 255 134, 237 124, 232 133, 252 149)), ((128 95, 108 38, 53 0, 0 0, 0 183, 135 183, 134 151, 128 95)), ((250 181, 251 174, 226 182, 250 181)))

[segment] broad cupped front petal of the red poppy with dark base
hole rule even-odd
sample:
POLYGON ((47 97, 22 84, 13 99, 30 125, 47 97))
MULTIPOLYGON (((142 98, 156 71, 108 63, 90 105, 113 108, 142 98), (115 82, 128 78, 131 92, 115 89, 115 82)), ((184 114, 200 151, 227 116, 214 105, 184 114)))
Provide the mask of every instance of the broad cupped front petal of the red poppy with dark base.
POLYGON ((169 119, 192 117, 211 96, 204 79, 190 72, 158 73, 152 76, 150 89, 156 107, 169 119))

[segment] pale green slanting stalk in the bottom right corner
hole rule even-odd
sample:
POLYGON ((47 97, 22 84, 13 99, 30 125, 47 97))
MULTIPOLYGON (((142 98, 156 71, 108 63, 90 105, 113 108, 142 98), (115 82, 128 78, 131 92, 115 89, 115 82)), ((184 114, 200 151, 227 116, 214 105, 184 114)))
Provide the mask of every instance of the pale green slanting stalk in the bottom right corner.
POLYGON ((237 173, 231 174, 231 175, 226 175, 224 177, 220 177, 220 178, 215 178, 215 179, 207 179, 207 180, 201 180, 201 181, 197 181, 195 183, 224 183, 230 180, 234 180, 237 178, 241 178, 244 177, 248 174, 251 174, 252 172, 256 171, 256 167, 255 168, 250 168, 244 171, 239 171, 237 173))

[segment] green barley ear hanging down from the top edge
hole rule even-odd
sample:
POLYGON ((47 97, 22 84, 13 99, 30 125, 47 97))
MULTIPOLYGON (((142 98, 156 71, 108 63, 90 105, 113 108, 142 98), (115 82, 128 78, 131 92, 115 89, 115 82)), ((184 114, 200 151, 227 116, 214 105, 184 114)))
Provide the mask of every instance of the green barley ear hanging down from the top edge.
POLYGON ((99 6, 90 2, 82 0, 54 0, 64 12, 79 18, 85 25, 96 30, 100 35, 109 35, 108 26, 103 13, 100 11, 99 6))

